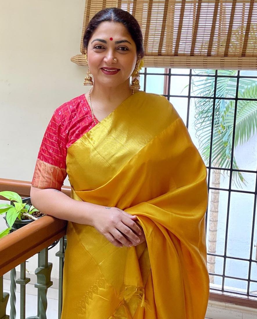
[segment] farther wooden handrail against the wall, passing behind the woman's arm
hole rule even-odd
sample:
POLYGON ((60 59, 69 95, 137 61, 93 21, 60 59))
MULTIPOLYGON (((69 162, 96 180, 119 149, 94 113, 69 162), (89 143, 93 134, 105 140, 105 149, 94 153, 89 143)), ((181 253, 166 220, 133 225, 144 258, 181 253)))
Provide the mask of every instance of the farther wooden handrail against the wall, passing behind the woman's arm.
MULTIPOLYGON (((9 190, 9 191, 18 193, 21 197, 29 197, 30 188, 31 188, 31 182, 0 178, 0 192, 3 190, 9 190)), ((63 186, 62 192, 66 194, 67 196, 70 196, 71 187, 63 186)), ((1 199, 6 199, 6 198, 0 196, 0 200, 1 199)))

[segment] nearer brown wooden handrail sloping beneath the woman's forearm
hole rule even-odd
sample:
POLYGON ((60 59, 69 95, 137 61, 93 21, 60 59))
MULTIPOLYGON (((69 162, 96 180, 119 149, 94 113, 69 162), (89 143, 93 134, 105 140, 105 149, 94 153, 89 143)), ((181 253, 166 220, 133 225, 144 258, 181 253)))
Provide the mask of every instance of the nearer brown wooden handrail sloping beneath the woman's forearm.
POLYGON ((66 234, 67 221, 43 216, 0 239, 0 276, 66 234))

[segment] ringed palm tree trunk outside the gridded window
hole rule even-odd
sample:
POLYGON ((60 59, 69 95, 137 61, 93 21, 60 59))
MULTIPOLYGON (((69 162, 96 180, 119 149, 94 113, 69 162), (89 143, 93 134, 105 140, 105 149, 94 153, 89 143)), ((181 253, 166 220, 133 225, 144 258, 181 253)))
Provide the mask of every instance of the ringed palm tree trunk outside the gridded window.
MULTIPOLYGON (((217 166, 217 163, 214 163, 217 166)), ((211 204, 210 204, 210 218, 209 218, 209 240, 208 240, 208 253, 216 253, 217 244, 217 228, 219 216, 219 197, 220 191, 220 170, 214 169, 212 172, 212 187, 217 189, 211 190, 211 204)), ((207 258, 208 272, 215 273, 215 256, 208 256, 207 258)), ((210 275, 210 282, 214 283, 214 276, 210 275)))

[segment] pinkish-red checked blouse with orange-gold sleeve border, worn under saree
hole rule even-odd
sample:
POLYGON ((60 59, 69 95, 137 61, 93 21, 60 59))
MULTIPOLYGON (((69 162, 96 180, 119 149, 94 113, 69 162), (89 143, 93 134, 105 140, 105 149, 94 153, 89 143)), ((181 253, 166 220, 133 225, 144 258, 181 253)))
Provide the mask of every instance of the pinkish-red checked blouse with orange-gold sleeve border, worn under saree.
POLYGON ((58 107, 42 139, 31 185, 41 189, 61 190, 67 176, 68 147, 94 125, 90 106, 84 94, 58 107))

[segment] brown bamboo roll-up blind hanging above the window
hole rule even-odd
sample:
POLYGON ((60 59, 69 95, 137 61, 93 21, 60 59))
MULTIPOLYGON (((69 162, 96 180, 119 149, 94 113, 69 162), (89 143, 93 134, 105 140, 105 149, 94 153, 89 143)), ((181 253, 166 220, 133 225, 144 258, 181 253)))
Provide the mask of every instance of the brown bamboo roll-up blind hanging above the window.
POLYGON ((257 69, 257 0, 86 0, 83 35, 103 8, 118 7, 139 22, 146 67, 257 69))

